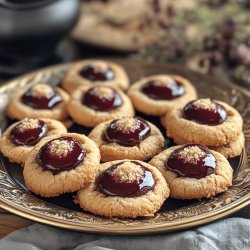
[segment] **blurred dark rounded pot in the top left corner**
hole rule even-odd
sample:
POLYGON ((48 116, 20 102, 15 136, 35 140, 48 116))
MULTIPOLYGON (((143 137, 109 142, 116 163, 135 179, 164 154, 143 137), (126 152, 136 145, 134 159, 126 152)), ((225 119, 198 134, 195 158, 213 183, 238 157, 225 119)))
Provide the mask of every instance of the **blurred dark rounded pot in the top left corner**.
POLYGON ((72 29, 78 0, 0 0, 0 58, 39 63, 72 29))

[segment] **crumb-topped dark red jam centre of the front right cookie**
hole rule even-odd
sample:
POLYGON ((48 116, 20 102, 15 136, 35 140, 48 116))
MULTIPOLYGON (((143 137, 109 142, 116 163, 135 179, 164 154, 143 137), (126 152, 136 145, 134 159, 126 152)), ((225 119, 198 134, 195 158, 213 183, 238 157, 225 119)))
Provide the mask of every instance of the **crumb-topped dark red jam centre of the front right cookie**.
POLYGON ((215 172, 216 159, 208 148, 187 144, 173 151, 165 166, 178 176, 200 179, 215 172))

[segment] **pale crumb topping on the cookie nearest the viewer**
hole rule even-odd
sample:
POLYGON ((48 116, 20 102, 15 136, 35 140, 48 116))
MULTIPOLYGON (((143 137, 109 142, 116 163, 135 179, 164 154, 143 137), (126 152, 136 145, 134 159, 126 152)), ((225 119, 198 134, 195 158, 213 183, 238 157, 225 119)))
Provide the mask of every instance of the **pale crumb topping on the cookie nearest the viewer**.
POLYGON ((112 176, 124 182, 139 181, 143 175, 143 169, 130 161, 122 163, 112 172, 112 176))

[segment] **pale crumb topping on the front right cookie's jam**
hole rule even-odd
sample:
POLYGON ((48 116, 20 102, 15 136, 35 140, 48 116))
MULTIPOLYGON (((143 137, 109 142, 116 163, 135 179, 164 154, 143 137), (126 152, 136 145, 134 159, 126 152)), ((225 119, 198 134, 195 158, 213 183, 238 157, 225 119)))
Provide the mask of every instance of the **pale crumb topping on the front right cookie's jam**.
POLYGON ((197 163, 201 157, 205 156, 206 153, 201 150, 198 146, 191 146, 181 150, 178 155, 184 162, 197 163))

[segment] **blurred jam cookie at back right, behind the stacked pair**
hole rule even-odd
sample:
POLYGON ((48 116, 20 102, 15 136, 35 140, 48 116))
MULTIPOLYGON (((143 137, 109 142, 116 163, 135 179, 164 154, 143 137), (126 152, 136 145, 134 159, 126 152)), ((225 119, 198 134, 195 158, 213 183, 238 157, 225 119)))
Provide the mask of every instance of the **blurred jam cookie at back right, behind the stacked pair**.
POLYGON ((197 97, 194 86, 177 75, 155 75, 134 83, 128 96, 136 110, 153 116, 163 116, 181 108, 197 97))

